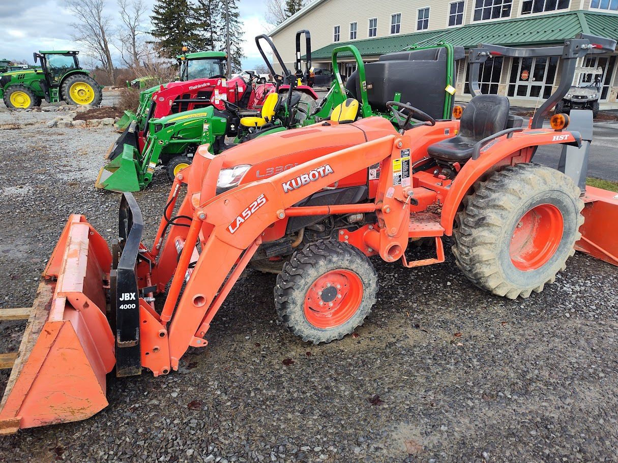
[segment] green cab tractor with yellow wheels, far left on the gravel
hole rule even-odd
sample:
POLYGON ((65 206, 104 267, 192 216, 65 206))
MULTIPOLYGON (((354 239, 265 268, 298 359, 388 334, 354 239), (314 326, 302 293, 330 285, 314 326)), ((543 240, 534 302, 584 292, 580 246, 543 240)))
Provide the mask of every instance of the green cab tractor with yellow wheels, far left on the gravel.
POLYGON ((82 69, 78 51, 40 51, 33 53, 41 67, 6 72, 0 75, 0 96, 10 109, 40 106, 41 101, 99 106, 101 86, 82 69))

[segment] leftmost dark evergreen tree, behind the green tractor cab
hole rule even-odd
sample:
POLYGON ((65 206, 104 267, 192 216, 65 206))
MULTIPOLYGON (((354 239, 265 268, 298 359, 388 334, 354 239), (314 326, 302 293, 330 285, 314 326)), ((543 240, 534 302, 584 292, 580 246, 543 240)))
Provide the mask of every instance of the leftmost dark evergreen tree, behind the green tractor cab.
POLYGON ((182 53, 182 47, 190 50, 201 48, 203 38, 197 33, 197 24, 189 15, 188 0, 156 0, 153 15, 152 35, 159 41, 159 54, 173 58, 182 53))

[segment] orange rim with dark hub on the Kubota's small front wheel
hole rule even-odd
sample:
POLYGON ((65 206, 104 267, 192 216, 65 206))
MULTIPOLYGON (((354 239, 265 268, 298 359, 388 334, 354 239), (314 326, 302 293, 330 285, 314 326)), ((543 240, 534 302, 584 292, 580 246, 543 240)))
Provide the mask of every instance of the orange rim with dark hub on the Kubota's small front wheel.
POLYGON ((363 300, 363 282, 350 270, 331 270, 315 280, 305 296, 305 319, 316 328, 343 325, 363 300))

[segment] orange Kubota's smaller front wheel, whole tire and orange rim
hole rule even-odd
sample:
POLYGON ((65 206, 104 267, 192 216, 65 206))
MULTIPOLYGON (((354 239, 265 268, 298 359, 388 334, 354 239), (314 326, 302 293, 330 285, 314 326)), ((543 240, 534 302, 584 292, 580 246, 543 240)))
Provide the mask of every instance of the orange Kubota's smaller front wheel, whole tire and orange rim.
POLYGON ((320 344, 362 325, 377 293, 378 275, 365 254, 351 244, 320 240, 284 264, 274 304, 292 333, 320 344))

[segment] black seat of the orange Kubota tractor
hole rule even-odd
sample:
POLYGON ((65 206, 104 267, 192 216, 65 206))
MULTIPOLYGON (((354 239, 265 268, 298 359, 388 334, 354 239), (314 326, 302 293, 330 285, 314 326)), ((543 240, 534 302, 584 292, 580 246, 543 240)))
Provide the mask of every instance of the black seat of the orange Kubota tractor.
POLYGON ((428 154, 437 161, 448 163, 468 161, 476 143, 504 130, 510 121, 515 122, 514 118, 509 118, 509 109, 506 96, 475 96, 464 109, 459 133, 453 138, 430 145, 427 148, 428 154))

